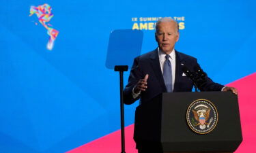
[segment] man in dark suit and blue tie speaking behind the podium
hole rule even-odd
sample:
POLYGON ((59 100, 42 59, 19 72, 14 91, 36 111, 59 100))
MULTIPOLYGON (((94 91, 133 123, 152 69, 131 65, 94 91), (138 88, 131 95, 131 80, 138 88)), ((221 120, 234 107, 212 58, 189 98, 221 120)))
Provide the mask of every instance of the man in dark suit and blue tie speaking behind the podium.
MULTIPOLYGON (((132 104, 140 99, 140 105, 143 105, 162 92, 186 92, 193 89, 193 82, 182 72, 182 65, 194 70, 199 64, 196 58, 174 49, 180 37, 178 29, 177 22, 171 18, 161 18, 156 22, 158 48, 134 58, 128 84, 124 89, 124 103, 132 104)), ((214 83, 207 75, 199 89, 238 93, 236 88, 214 83)), ((137 148, 139 153, 152 152, 141 150, 138 144, 137 148)))

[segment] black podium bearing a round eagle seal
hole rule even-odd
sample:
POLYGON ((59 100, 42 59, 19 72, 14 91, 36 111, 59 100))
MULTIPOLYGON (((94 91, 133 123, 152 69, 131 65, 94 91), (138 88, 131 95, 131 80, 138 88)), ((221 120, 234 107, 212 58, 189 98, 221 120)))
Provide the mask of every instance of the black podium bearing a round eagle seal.
POLYGON ((235 152, 242 142, 238 97, 231 92, 162 93, 137 107, 134 141, 137 148, 143 150, 160 148, 162 152, 235 152), (214 121, 209 121, 209 106, 198 103, 199 106, 195 107, 197 110, 189 109, 196 101, 209 101, 214 105, 212 108, 216 112, 210 110, 215 115, 215 118, 211 117, 214 121), (203 111, 206 115, 200 115, 200 107, 205 107, 203 111), (190 125, 189 118, 192 118, 191 122, 194 122, 195 128, 199 128, 199 132, 190 125), (207 131, 210 126, 212 129, 207 131))

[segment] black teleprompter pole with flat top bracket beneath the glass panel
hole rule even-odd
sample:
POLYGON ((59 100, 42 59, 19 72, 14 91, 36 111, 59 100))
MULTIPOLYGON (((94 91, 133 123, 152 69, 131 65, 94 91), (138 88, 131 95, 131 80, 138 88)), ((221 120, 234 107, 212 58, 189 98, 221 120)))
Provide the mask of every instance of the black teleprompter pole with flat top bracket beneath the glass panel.
POLYGON ((124 141, 124 71, 128 70, 127 65, 115 66, 115 71, 119 71, 120 79, 120 112, 121 112, 121 153, 126 153, 125 141, 124 141))

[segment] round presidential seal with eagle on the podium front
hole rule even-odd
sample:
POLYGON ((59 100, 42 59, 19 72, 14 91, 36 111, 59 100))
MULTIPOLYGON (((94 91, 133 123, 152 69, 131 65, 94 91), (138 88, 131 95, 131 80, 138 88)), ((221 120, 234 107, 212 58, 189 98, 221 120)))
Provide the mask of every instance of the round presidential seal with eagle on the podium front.
POLYGON ((212 102, 197 99, 189 105, 186 120, 190 129, 195 133, 206 134, 215 128, 218 122, 218 112, 212 102))

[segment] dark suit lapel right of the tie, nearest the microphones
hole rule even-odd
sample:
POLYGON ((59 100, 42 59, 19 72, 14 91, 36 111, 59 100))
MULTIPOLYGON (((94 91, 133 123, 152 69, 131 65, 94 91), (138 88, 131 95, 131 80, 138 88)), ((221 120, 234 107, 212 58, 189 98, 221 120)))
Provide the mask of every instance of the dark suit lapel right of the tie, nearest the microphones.
POLYGON ((180 55, 180 52, 177 52, 177 50, 175 50, 175 55, 176 55, 176 63, 175 63, 175 82, 174 82, 174 88, 173 88, 173 92, 179 91, 180 90, 180 86, 178 86, 177 82, 180 82, 180 80, 182 79, 182 63, 183 63, 183 58, 180 55))

